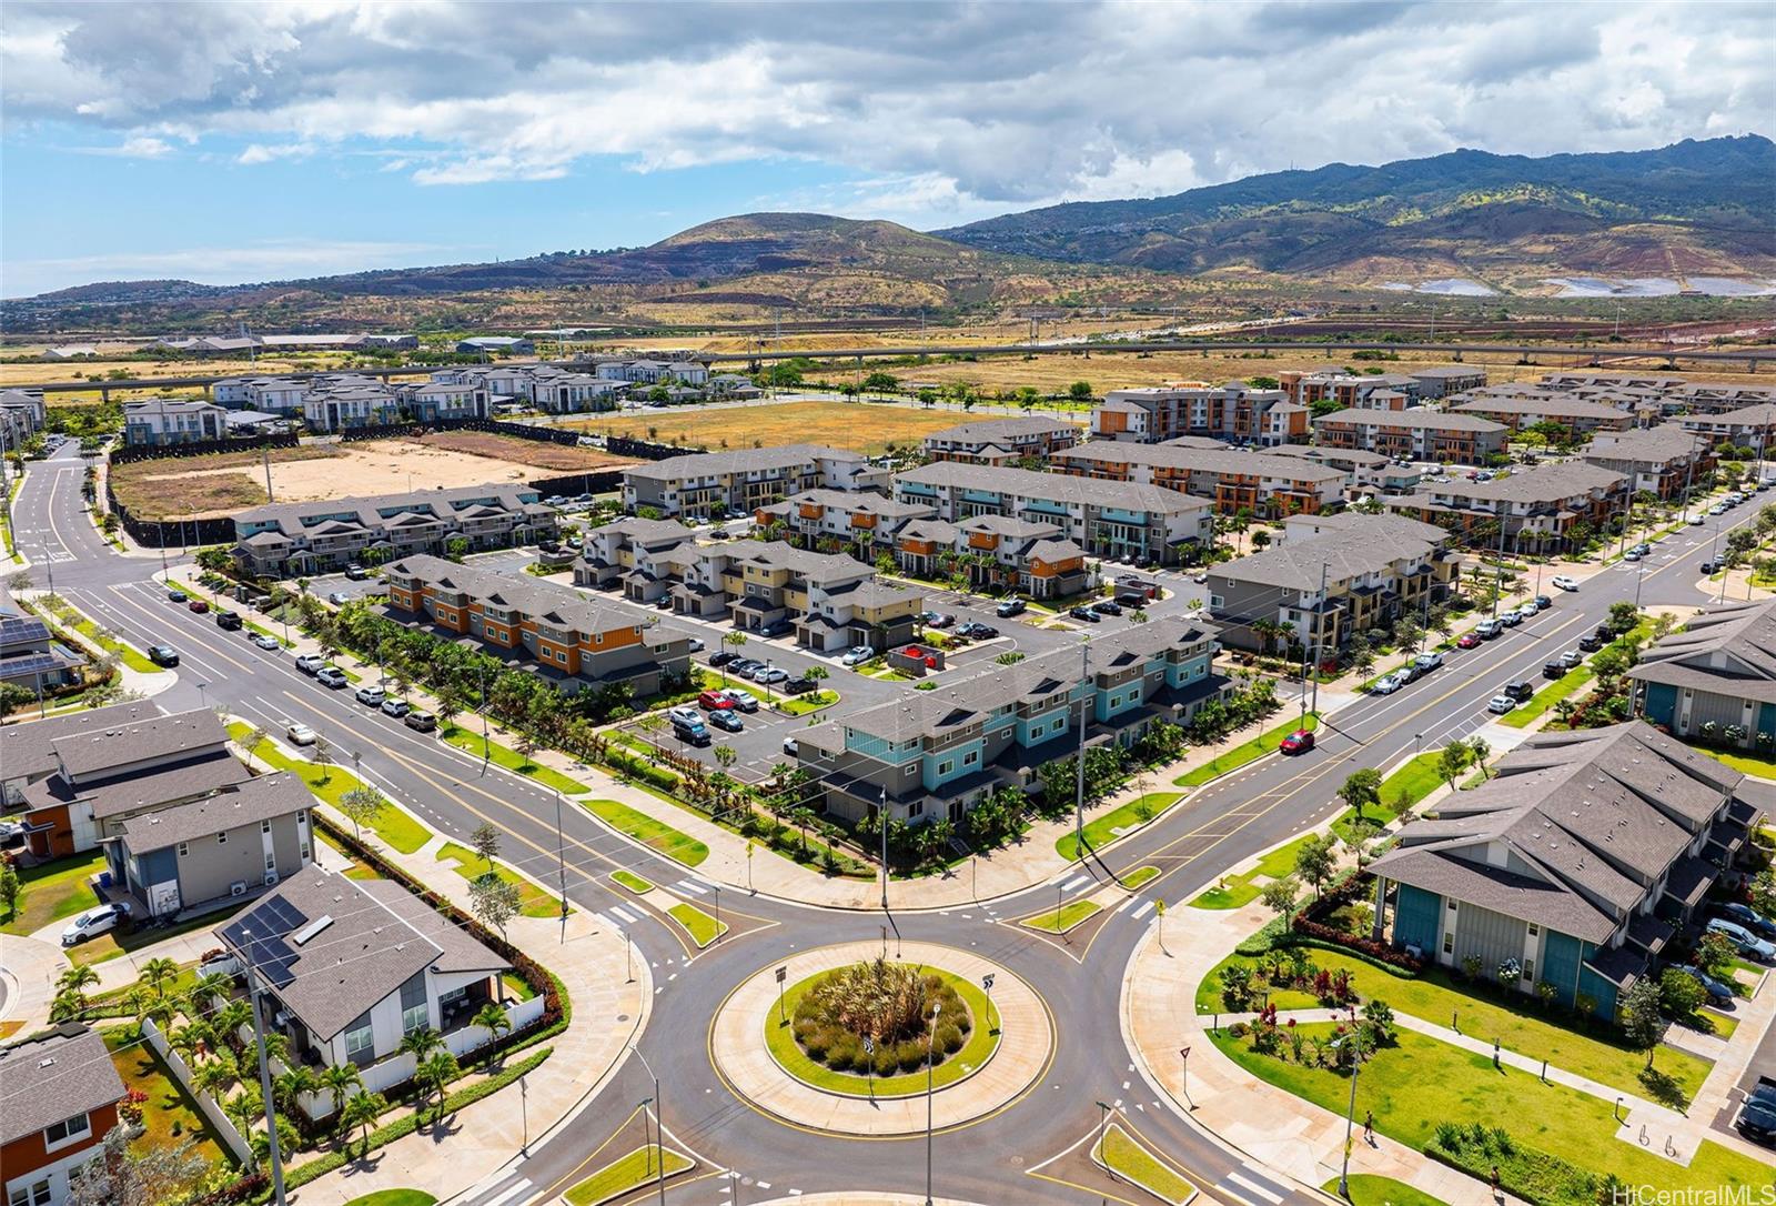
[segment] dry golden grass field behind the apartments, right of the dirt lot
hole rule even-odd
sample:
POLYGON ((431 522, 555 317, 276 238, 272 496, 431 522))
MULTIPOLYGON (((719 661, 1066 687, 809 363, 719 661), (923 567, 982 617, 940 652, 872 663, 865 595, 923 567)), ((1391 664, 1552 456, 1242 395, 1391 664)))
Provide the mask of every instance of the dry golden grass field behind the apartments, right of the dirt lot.
POLYGON ((586 419, 575 426, 600 435, 654 439, 662 444, 769 448, 773 444, 831 444, 860 453, 918 444, 929 432, 963 423, 957 410, 915 410, 867 401, 785 401, 769 407, 680 409, 586 419))

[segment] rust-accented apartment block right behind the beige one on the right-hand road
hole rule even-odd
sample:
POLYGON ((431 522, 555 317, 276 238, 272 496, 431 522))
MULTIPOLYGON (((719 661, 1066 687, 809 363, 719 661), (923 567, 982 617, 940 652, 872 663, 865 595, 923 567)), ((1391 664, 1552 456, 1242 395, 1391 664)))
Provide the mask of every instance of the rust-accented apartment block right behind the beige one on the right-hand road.
POLYGON ((1566 462, 1517 469, 1492 481, 1440 481, 1405 496, 1382 496, 1382 504, 1446 528, 1463 543, 1485 543, 1513 552, 1561 552, 1575 535, 1606 531, 1627 508, 1625 474, 1566 462))

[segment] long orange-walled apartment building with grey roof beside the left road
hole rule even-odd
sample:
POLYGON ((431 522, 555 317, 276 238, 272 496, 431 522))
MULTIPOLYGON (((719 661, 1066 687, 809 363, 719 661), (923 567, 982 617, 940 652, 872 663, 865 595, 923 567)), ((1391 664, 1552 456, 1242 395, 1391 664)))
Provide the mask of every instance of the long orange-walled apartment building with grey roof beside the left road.
POLYGON ((687 632, 643 623, 634 611, 572 586, 430 554, 391 561, 384 581, 391 609, 531 663, 568 693, 622 682, 639 698, 657 694, 662 678, 689 675, 687 632))

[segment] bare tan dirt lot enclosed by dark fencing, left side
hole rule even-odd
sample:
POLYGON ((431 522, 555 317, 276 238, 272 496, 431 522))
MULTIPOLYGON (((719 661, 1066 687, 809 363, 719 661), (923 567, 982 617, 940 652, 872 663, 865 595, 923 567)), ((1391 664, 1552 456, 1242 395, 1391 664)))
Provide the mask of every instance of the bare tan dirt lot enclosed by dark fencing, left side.
MULTIPOLYGON (((272 487, 279 503, 311 503, 366 494, 400 494, 464 485, 515 485, 551 471, 579 472, 627 464, 584 448, 554 448, 531 440, 456 432, 485 444, 487 455, 419 440, 375 440, 368 444, 305 444, 272 451, 272 487), (520 462, 494 451, 542 455, 563 453, 563 465, 520 462), (543 472, 538 472, 543 471, 543 472)), ((140 519, 202 519, 233 515, 259 506, 265 497, 265 467, 259 453, 217 453, 185 460, 144 460, 112 469, 117 499, 140 519)))

